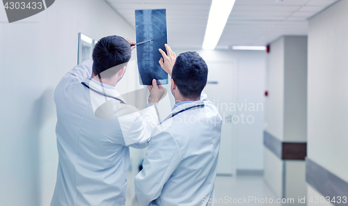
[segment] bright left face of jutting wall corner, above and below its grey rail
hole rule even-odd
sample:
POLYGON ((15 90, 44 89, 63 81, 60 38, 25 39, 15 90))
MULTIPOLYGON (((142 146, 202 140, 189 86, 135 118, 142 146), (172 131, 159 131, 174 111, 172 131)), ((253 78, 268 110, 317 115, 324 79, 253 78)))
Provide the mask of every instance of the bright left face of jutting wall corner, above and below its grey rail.
MULTIPOLYGON (((284 128, 284 38, 271 43, 267 54, 267 77, 264 108, 264 130, 283 141, 284 128)), ((264 148, 264 180, 276 193, 283 196, 284 162, 271 150, 264 148)))

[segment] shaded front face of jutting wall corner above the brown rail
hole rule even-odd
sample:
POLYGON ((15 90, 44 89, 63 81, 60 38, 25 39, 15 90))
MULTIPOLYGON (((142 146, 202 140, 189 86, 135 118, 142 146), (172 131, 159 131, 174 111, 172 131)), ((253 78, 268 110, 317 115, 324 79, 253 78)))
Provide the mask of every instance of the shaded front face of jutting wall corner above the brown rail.
POLYGON ((286 36, 284 141, 307 141, 307 36, 286 36))

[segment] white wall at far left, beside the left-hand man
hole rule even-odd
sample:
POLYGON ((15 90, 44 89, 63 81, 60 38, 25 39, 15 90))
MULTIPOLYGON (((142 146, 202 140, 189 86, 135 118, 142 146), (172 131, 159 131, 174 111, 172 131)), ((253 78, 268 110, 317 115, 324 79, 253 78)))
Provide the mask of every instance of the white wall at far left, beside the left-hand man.
POLYGON ((17 23, 0 9, 0 205, 49 205, 56 181, 53 92, 77 64, 78 33, 99 39, 134 29, 105 1, 60 0, 17 23))

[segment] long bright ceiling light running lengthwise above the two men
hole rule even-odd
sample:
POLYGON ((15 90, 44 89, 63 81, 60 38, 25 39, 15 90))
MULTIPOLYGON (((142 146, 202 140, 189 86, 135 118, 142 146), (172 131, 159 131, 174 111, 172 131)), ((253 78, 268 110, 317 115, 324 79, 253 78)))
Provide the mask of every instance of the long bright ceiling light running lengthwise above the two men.
POLYGON ((235 0, 212 0, 203 49, 215 49, 233 5, 235 5, 235 0))

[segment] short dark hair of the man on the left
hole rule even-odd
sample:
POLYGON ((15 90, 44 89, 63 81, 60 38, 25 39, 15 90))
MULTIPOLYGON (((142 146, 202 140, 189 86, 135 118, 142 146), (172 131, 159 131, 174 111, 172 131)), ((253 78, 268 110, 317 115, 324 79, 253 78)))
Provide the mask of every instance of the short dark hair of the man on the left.
MULTIPOLYGON (((131 56, 130 45, 125 38, 118 35, 101 38, 93 49, 93 73, 97 75, 116 65, 127 63, 131 56)), ((113 77, 119 70, 120 68, 108 71, 106 77, 113 77)))

